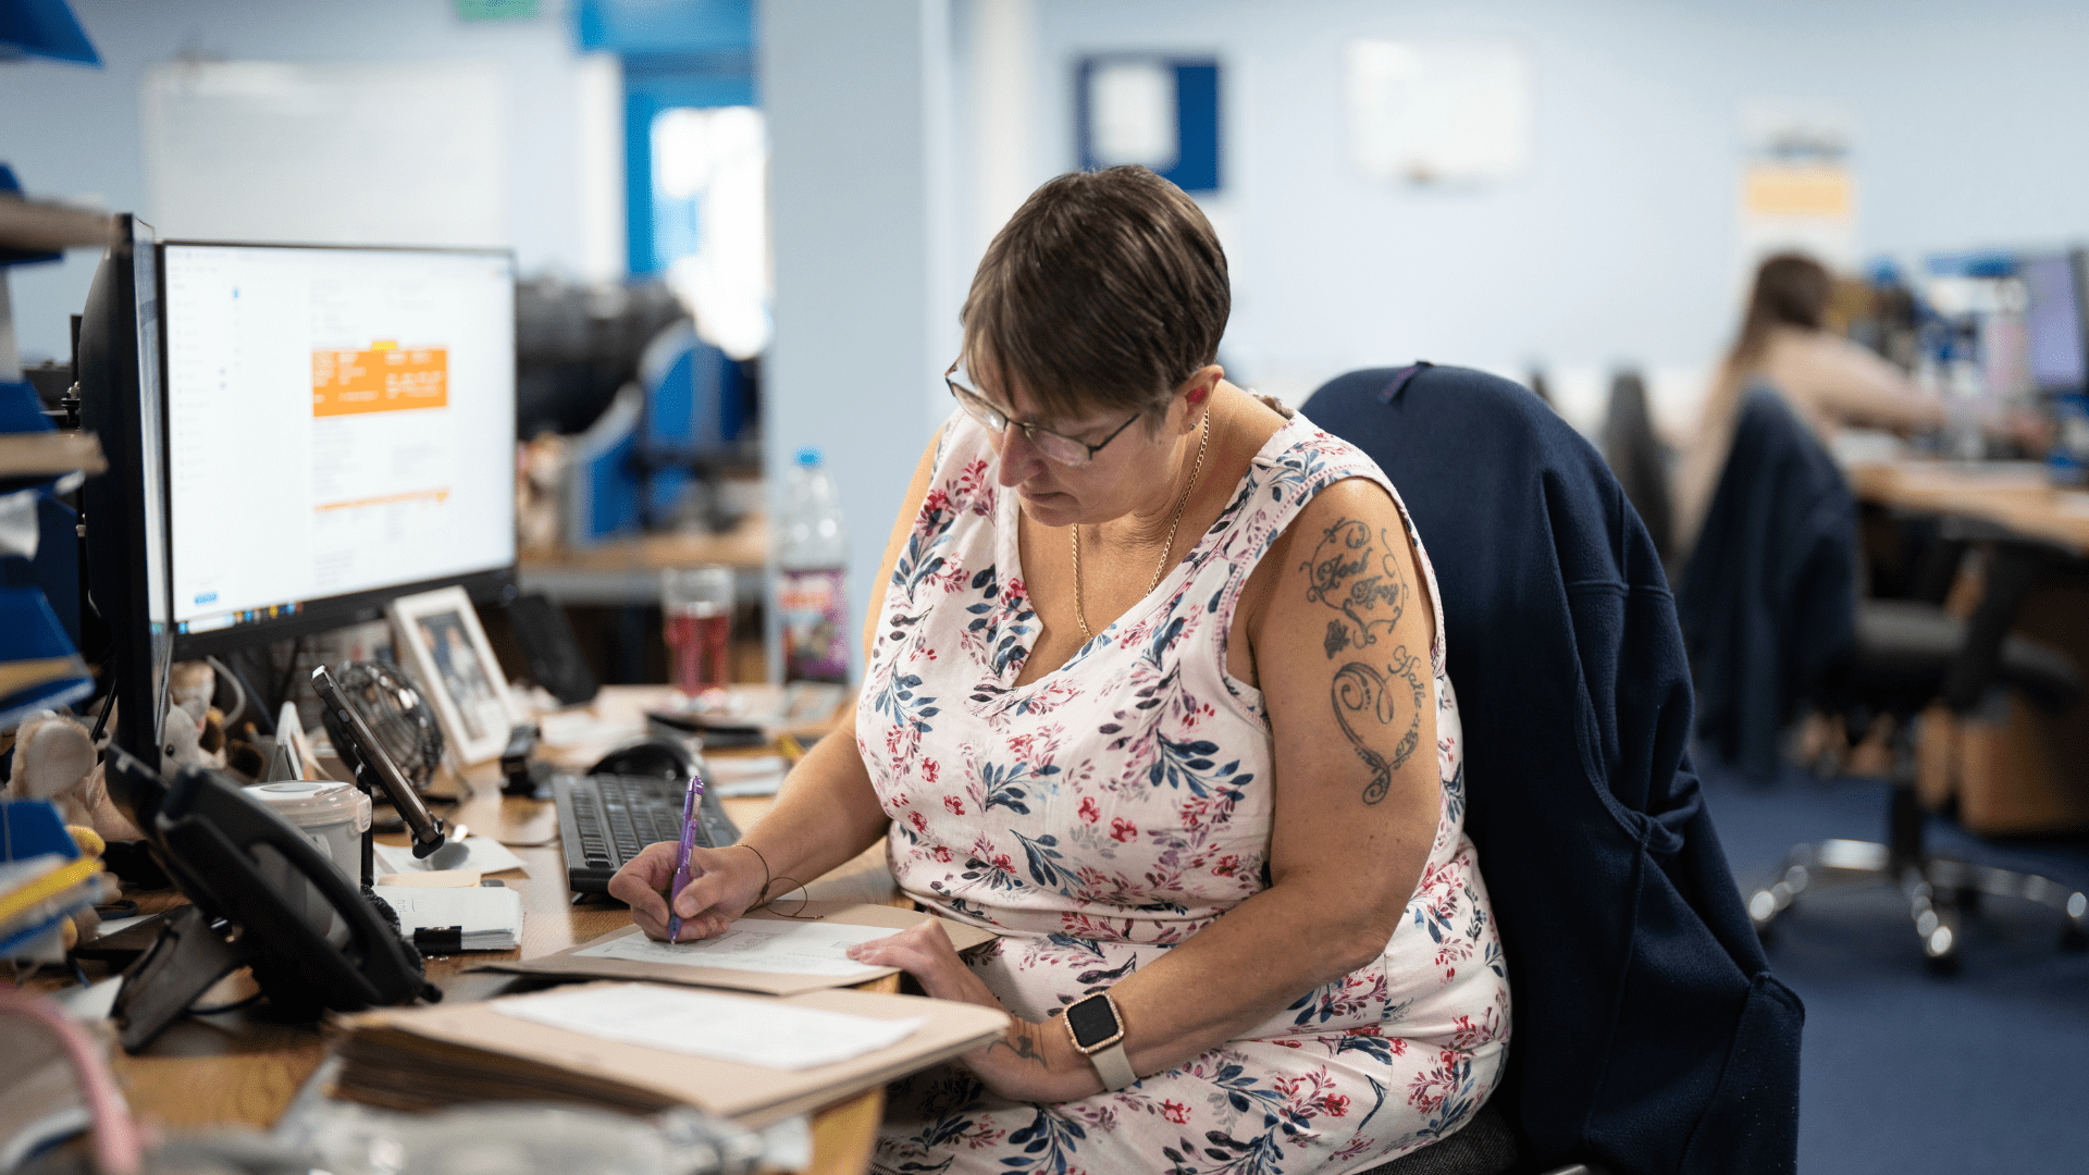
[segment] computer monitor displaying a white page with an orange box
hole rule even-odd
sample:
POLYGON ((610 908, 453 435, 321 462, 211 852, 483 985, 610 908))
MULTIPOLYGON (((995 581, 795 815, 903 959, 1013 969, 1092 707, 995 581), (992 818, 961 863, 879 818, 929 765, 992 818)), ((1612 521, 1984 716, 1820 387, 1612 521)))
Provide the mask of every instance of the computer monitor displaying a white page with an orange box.
POLYGON ((161 247, 175 656, 514 585, 514 257, 161 247))

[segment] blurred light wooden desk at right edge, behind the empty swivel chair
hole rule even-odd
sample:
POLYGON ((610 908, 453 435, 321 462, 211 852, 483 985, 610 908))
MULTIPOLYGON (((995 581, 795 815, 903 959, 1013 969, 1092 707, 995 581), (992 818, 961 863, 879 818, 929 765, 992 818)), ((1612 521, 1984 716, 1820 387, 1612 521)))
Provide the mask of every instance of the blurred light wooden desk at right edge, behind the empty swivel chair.
MULTIPOLYGON (((2041 577, 2018 631, 2089 673, 2089 491, 2053 489, 2031 462, 1853 462, 1857 498, 1895 510, 1968 519, 2053 544, 2076 567, 2041 577)), ((1924 713, 1918 788, 1930 807, 1955 797, 1959 824, 1982 834, 2089 828, 2089 700, 2049 715, 2010 696, 2005 715, 1924 713)))

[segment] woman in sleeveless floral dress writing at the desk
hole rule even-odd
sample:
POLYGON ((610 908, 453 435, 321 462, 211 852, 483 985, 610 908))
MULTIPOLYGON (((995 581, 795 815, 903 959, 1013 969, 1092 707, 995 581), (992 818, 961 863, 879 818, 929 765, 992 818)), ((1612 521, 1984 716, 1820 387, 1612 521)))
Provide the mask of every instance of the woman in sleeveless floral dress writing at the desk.
MULTIPOLYGON (((717 935, 886 838, 909 897, 1003 935, 854 949, 1015 1018, 894 1093, 879 1169, 1364 1169, 1502 1070, 1429 560, 1377 464, 1224 381, 1228 307, 1151 171, 1030 197, 965 301, 854 738, 675 895, 717 935)), ((671 872, 654 845, 610 884, 654 937, 671 872)))

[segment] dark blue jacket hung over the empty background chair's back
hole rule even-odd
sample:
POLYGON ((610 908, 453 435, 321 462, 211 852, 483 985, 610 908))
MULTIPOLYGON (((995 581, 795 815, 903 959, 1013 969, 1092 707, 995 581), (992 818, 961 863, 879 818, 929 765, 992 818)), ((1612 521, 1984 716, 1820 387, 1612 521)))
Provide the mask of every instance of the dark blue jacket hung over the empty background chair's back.
POLYGON ((1849 650, 1855 608, 1857 500, 1813 431, 1757 385, 1677 594, 1705 744, 1776 774, 1780 732, 1849 650))

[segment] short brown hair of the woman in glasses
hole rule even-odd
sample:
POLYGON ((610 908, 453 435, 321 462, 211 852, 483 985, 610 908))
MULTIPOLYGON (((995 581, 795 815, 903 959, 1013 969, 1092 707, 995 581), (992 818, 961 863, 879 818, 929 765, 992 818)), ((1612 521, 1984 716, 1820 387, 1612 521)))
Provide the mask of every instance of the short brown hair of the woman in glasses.
POLYGON ((1145 167, 1047 182, 986 247, 965 295, 965 358, 1009 372, 1047 416, 1157 412, 1218 358, 1233 312, 1203 211, 1145 167))

